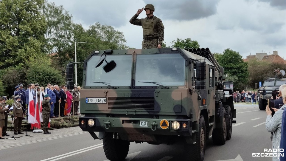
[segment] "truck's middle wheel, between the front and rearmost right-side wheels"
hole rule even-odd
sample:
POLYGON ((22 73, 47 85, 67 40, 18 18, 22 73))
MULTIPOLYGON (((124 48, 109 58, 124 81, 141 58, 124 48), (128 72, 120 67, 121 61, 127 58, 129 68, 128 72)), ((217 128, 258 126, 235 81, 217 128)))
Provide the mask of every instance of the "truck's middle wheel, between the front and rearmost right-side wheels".
POLYGON ((223 145, 226 143, 226 131, 227 131, 227 117, 226 117, 226 109, 223 108, 223 121, 220 121, 220 129, 214 129, 212 131, 212 141, 216 145, 223 145))

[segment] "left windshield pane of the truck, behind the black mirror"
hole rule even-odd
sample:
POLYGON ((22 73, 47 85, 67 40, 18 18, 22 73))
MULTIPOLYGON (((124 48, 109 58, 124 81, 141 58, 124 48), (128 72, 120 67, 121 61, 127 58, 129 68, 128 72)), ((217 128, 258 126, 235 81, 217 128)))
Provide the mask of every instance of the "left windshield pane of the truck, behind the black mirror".
POLYGON ((86 64, 86 86, 131 86, 132 55, 106 55, 106 61, 114 60, 116 67, 106 73, 102 67, 106 65, 104 61, 101 66, 95 68, 95 64, 100 59, 100 55, 92 56, 86 64), (95 83, 103 82, 103 83, 95 83))

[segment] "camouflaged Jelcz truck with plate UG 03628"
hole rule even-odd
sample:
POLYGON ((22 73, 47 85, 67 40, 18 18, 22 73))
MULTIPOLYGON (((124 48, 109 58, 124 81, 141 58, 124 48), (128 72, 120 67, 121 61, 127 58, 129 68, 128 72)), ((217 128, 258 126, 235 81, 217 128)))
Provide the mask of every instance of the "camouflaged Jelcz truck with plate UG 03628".
POLYGON ((86 58, 79 126, 103 140, 107 159, 124 160, 130 142, 147 142, 181 143, 186 160, 203 160, 207 140, 231 139, 236 110, 223 67, 208 48, 189 50, 100 50, 86 58))

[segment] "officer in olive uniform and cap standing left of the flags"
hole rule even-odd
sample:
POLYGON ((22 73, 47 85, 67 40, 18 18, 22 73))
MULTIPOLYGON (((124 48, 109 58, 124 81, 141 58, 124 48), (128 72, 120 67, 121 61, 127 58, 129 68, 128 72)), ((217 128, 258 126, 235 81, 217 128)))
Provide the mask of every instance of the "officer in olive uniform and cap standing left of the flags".
POLYGON ((21 96, 17 95, 15 96, 15 102, 13 103, 13 115, 15 117, 15 124, 14 124, 14 134, 24 134, 21 132, 21 126, 22 126, 22 119, 24 118, 24 113, 22 110, 22 104, 20 103, 21 96), (18 133, 17 133, 18 131, 18 133))

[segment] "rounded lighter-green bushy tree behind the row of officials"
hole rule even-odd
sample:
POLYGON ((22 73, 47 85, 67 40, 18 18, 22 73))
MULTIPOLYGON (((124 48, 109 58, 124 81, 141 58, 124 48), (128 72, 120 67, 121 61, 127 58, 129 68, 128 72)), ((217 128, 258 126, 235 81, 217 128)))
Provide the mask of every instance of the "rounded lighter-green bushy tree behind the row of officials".
POLYGON ((52 66, 49 56, 38 56, 29 61, 27 70, 27 83, 39 83, 41 86, 64 83, 64 77, 61 72, 52 66))

